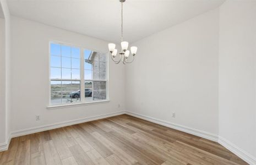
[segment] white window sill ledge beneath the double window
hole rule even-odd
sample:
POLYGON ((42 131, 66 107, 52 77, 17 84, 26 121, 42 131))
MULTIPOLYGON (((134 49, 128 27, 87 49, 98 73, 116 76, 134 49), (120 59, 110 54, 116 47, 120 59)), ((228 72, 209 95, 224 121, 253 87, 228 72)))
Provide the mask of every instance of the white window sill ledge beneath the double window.
POLYGON ((83 102, 83 103, 74 103, 70 105, 56 105, 56 106, 48 106, 47 109, 59 109, 59 108, 68 108, 68 107, 80 107, 80 106, 88 106, 88 105, 97 105, 102 103, 109 103, 110 100, 102 100, 102 101, 92 101, 92 102, 83 102))

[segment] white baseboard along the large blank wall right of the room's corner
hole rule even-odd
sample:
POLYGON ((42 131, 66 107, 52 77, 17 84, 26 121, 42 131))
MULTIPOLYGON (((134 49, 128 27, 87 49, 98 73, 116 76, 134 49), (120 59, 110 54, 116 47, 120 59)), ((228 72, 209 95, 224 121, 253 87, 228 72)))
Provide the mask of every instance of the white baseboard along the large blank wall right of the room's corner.
POLYGON ((126 112, 126 114, 129 114, 130 116, 134 116, 134 117, 137 117, 137 118, 148 120, 149 122, 152 122, 152 123, 164 125, 166 127, 177 129, 177 130, 183 131, 183 132, 188 133, 188 134, 200 136, 201 138, 209 139, 209 140, 212 140, 212 141, 218 141, 218 135, 208 133, 208 132, 203 131, 203 130, 186 127, 184 125, 179 125, 179 124, 176 124, 176 123, 167 122, 165 120, 152 118, 152 117, 149 117, 149 116, 145 116, 143 114, 138 114, 138 113, 128 112, 128 111, 125 111, 125 112, 126 112))

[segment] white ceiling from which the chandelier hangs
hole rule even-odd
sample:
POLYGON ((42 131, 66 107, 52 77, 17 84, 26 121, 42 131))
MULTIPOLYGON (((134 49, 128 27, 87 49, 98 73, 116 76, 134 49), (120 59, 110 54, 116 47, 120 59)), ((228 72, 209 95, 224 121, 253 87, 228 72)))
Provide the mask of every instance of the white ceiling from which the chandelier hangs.
MULTIPOLYGON (((124 40, 137 41, 214 9, 225 0, 126 0, 124 40)), ((106 41, 119 42, 118 0, 8 0, 10 13, 106 41)))

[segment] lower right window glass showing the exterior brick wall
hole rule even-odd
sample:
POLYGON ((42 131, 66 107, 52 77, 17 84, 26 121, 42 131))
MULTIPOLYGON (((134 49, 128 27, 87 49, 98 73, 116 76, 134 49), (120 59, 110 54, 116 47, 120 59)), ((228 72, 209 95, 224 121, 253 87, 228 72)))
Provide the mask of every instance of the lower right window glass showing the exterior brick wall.
POLYGON ((106 100, 106 81, 94 81, 94 100, 106 100))

